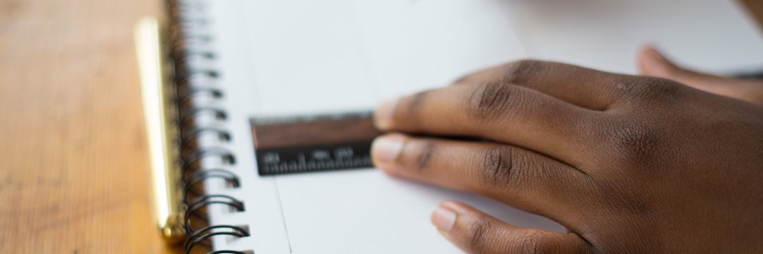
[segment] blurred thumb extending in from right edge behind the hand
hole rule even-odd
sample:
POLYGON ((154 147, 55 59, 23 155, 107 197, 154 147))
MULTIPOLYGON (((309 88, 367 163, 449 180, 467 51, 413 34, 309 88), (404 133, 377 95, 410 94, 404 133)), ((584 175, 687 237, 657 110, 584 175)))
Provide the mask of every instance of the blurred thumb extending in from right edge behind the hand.
POLYGON ((639 52, 639 69, 645 76, 671 79, 716 95, 757 104, 763 103, 763 83, 723 78, 682 69, 671 63, 654 47, 645 47, 639 52))

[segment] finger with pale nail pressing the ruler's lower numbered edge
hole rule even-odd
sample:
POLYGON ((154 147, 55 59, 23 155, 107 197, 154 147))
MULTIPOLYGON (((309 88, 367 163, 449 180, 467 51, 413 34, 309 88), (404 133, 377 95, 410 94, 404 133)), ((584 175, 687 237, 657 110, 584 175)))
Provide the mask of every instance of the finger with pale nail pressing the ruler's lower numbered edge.
POLYGON ((583 172, 515 146, 393 133, 374 141, 372 159, 391 175, 488 195, 562 223, 587 195, 583 172))

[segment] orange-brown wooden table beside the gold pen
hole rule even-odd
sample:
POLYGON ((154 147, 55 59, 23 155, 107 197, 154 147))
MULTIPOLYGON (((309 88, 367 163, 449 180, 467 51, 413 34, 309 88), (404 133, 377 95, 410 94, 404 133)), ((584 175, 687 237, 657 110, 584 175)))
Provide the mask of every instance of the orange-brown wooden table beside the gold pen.
POLYGON ((151 214, 132 33, 162 8, 0 0, 0 253, 179 250, 151 214))

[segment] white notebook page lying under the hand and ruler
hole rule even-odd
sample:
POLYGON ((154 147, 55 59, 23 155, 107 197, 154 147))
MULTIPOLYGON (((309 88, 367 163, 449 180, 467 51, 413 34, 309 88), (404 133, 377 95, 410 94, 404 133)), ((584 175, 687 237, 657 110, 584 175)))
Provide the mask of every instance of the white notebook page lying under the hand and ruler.
MULTIPOLYGON (((589 5, 591 1, 581 3, 589 5)), ((256 253, 459 252, 429 220, 436 204, 451 199, 519 226, 563 230, 550 220, 488 198, 391 178, 376 169, 260 177, 249 130, 248 120, 256 115, 372 108, 383 99, 448 85, 466 72, 528 56, 633 72, 631 59, 639 38, 671 47, 668 50, 687 41, 684 34, 660 32, 658 26, 656 31, 629 31, 620 29, 625 24, 614 21, 580 20, 596 20, 600 18, 597 14, 607 10, 583 12, 586 15, 575 18, 534 2, 539 1, 208 1, 220 54, 219 82, 227 92, 224 107, 229 111, 233 137, 227 146, 237 153, 237 165, 230 170, 243 181, 238 189, 222 188, 214 182, 210 188, 240 198, 246 205, 243 213, 213 208, 211 220, 248 225, 253 234, 237 240, 215 240, 216 249, 253 249, 256 253), (546 8, 549 12, 543 11, 546 8), (517 14, 522 11, 525 14, 517 14), (541 17, 546 17, 546 22, 537 22, 534 27, 528 24, 541 17), (577 25, 565 26, 567 22, 577 25), (597 40, 597 47, 581 47, 604 34, 610 43, 597 40), (629 43, 620 43, 623 40, 629 43)), ((712 9, 687 12, 689 16, 679 20, 681 25, 689 26, 691 20, 707 14, 719 15, 726 17, 724 22, 708 27, 707 33, 732 38, 709 36, 693 41, 694 50, 673 54, 680 61, 698 61, 694 64, 703 69, 759 66, 763 44, 749 21, 729 2, 708 2, 712 1, 703 4, 712 9), (727 32, 729 29, 734 32, 727 32), (727 48, 726 40, 739 40, 740 45, 751 48, 727 48), (729 54, 714 53, 716 50, 729 54), (748 55, 755 59, 742 57, 748 55)), ((658 20, 674 21, 664 17, 658 20)))

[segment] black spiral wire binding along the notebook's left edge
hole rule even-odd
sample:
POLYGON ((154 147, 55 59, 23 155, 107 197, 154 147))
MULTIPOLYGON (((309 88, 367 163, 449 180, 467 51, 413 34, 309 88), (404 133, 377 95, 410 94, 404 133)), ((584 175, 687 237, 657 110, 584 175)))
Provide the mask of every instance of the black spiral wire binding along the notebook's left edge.
MULTIPOLYGON (((224 147, 202 147, 198 138, 208 133, 216 134, 220 141, 230 141, 230 133, 224 128, 227 114, 214 103, 198 104, 196 98, 204 97, 208 101, 224 99, 223 91, 214 84, 219 76, 216 69, 205 66, 193 66, 192 61, 214 62, 215 53, 208 48, 212 35, 204 32, 207 24, 203 17, 203 2, 198 0, 168 0, 170 59, 174 64, 173 76, 176 84, 176 103, 178 105, 177 124, 182 157, 182 178, 185 211, 185 231, 188 239, 183 250, 190 253, 197 246, 211 248, 212 236, 250 236, 247 227, 235 225, 209 225, 207 207, 224 205, 232 211, 244 211, 242 201, 228 195, 206 194, 201 186, 204 180, 220 178, 232 188, 240 185, 239 178, 226 169, 204 169, 201 160, 207 157, 222 159, 228 164, 235 163, 236 156, 224 147), (201 14, 201 15, 199 15, 201 14), (218 124, 199 126, 195 119, 200 114, 211 114, 218 124)), ((250 254, 251 251, 217 250, 208 253, 250 254)))

